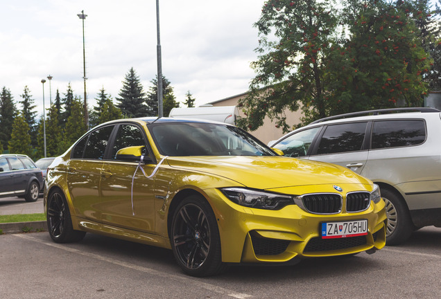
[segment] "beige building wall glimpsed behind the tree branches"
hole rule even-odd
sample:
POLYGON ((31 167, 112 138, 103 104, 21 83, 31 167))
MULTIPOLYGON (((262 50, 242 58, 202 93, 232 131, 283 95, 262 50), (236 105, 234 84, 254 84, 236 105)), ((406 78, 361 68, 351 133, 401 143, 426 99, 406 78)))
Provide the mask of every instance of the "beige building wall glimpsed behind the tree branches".
MULTIPOLYGON (((213 105, 214 107, 221 106, 237 106, 239 99, 247 96, 247 93, 242 93, 237 96, 232 96, 230 98, 225 98, 223 100, 218 100, 215 102, 209 102, 209 105, 213 105)), ((239 109, 239 116, 245 117, 245 114, 239 109)), ((301 111, 291 112, 289 110, 286 111, 286 123, 289 126, 297 125, 300 123, 300 117, 302 116, 301 111)), ((257 137, 263 143, 268 144, 268 142, 279 139, 284 135, 282 129, 275 127, 275 123, 268 118, 268 116, 263 120, 263 126, 259 127, 256 131, 250 132, 253 136, 257 137)))

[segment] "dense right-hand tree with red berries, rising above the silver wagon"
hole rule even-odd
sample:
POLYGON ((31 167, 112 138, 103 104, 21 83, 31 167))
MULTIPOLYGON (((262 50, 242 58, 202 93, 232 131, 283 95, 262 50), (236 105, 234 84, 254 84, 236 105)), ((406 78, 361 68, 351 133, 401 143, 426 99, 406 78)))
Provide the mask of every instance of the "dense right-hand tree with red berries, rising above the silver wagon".
POLYGON ((337 111, 421 107, 431 59, 402 1, 345 0, 347 39, 331 54, 337 111))

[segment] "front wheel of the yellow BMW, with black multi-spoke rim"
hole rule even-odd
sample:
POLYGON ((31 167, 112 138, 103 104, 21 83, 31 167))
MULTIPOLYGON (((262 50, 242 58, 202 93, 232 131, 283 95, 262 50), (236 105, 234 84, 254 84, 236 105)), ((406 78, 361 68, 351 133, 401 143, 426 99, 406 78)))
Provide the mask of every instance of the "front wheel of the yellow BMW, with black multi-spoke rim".
POLYGON ((191 195, 173 214, 170 242, 182 270, 192 276, 216 275, 225 269, 216 217, 209 203, 191 195))

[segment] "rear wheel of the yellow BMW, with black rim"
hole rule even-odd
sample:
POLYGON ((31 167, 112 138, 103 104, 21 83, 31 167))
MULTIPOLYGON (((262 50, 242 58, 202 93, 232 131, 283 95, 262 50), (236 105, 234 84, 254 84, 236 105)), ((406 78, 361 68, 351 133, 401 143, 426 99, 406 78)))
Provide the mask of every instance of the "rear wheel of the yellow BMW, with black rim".
POLYGON ((60 190, 49 195, 47 203, 47 228, 49 235, 56 243, 78 242, 85 232, 72 228, 71 213, 66 198, 60 190))

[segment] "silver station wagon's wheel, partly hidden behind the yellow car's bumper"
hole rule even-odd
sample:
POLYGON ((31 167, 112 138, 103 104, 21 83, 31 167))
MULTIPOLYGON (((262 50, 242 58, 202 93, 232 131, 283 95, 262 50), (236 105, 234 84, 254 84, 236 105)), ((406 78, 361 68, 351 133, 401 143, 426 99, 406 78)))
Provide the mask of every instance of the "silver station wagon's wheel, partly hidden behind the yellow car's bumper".
POLYGON ((386 227, 386 245, 398 245, 405 242, 414 230, 410 213, 404 200, 395 192, 381 190, 381 197, 386 203, 388 226, 386 227))

